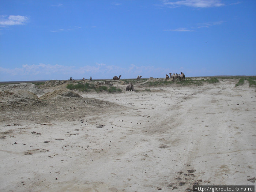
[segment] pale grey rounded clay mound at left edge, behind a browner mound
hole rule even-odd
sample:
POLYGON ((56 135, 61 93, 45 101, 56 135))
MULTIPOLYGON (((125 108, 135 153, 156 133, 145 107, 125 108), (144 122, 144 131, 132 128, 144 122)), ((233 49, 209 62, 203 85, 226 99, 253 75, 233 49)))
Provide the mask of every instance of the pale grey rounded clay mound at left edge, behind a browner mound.
POLYGON ((8 85, 2 85, 0 86, 1 91, 18 91, 18 90, 26 90, 30 91, 31 93, 34 93, 36 95, 42 95, 44 94, 44 91, 39 89, 35 84, 33 83, 18 83, 18 84, 8 84, 8 85))

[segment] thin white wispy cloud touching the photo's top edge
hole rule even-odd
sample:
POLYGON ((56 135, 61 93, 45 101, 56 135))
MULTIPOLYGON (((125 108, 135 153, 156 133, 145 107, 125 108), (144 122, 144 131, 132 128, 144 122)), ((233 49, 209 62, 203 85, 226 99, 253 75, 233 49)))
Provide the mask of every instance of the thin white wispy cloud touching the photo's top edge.
POLYGON ((206 8, 206 7, 221 7, 225 5, 220 0, 180 0, 180 1, 170 1, 163 0, 162 5, 168 7, 180 7, 180 6, 188 6, 188 7, 196 7, 196 8, 206 8))

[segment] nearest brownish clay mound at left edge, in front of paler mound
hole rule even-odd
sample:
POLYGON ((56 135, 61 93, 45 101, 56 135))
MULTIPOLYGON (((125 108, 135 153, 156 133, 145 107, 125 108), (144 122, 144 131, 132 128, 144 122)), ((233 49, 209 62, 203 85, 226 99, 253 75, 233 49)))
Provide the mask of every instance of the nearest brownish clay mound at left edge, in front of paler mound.
POLYGON ((0 106, 6 107, 20 107, 20 106, 31 106, 38 105, 41 103, 40 99, 34 93, 26 90, 5 90, 0 91, 0 106))

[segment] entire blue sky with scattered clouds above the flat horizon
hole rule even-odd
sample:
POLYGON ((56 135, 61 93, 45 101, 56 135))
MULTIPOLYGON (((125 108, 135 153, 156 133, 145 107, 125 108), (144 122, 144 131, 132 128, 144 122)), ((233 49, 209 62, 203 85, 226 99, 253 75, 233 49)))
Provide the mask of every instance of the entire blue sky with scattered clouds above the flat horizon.
POLYGON ((256 75, 255 0, 0 0, 0 81, 256 75))

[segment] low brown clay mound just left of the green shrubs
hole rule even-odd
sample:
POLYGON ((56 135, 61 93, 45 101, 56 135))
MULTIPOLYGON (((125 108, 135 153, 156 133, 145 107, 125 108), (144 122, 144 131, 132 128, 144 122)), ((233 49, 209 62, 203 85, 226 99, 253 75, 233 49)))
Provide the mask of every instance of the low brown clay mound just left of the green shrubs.
POLYGON ((59 89, 50 93, 46 93, 40 97, 40 99, 53 99, 56 97, 81 97, 79 94, 69 89, 59 89))

